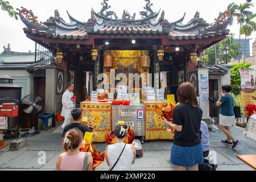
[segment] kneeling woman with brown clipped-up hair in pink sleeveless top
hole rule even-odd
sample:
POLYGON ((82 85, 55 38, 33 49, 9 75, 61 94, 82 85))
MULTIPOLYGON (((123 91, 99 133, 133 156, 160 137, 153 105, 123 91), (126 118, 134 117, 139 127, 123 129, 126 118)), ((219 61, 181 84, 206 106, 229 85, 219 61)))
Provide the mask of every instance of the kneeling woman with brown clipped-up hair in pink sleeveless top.
POLYGON ((82 133, 72 129, 63 138, 64 151, 56 162, 56 171, 92 171, 93 158, 90 152, 80 152, 82 133))

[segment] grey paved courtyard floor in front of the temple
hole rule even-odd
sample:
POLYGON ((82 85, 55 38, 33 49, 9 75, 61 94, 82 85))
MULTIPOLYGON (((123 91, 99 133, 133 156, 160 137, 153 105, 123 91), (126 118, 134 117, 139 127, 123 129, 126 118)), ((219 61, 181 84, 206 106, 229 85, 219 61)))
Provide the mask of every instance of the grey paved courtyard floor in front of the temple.
MULTIPOLYGON (((60 125, 60 124, 59 124, 60 125)), ((236 150, 220 143, 225 135, 220 131, 210 132, 210 154, 218 164, 217 171, 247 171, 253 170, 241 160, 240 154, 256 154, 256 143, 243 137, 241 127, 233 127, 234 137, 241 141, 236 150)), ((0 171, 2 170, 55 170, 57 157, 63 152, 61 144, 60 126, 48 131, 42 131, 35 137, 26 138, 26 144, 18 151, 9 151, 9 147, 0 150, 0 171), (39 151, 46 152, 46 164, 39 164, 39 151)), ((9 143, 11 140, 5 140, 9 143)), ((105 151, 105 143, 94 143, 100 152, 105 151)), ((169 140, 147 141, 142 144, 143 157, 137 157, 133 165, 134 171, 172 171, 174 166, 170 163, 172 142, 169 140)), ((107 171, 106 162, 96 170, 107 171)))

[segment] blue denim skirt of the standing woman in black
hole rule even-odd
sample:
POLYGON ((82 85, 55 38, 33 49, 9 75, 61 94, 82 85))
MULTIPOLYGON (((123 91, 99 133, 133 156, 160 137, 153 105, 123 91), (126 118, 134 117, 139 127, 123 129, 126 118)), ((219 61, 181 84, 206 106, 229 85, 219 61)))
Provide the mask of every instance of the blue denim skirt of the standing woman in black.
POLYGON ((171 163, 175 166, 192 167, 196 164, 203 164, 203 162, 204 156, 201 143, 192 147, 172 145, 171 163))

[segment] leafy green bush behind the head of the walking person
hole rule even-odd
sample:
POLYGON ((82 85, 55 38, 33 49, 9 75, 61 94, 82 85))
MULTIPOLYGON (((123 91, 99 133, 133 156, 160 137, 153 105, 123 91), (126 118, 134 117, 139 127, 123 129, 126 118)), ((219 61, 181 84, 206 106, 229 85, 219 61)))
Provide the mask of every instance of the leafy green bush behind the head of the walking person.
POLYGON ((232 64, 234 67, 230 70, 230 79, 231 79, 231 86, 232 86, 232 92, 234 94, 240 94, 241 90, 241 77, 240 77, 240 70, 241 69, 251 69, 251 63, 238 63, 238 64, 232 64))

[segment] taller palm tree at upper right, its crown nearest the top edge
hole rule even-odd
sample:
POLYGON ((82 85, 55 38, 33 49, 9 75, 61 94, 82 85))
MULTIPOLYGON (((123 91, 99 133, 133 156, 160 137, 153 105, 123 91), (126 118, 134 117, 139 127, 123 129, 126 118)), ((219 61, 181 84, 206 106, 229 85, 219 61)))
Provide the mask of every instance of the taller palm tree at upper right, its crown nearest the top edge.
MULTIPOLYGON (((245 19, 253 15, 253 12, 249 10, 251 7, 254 7, 251 2, 246 2, 239 6, 235 3, 231 3, 228 6, 230 13, 237 17, 237 23, 240 24, 240 32, 242 25, 245 23, 245 19)), ((239 34, 239 47, 241 47, 241 33, 239 34)), ((238 63, 240 63, 240 52, 238 52, 238 59, 238 63)))

